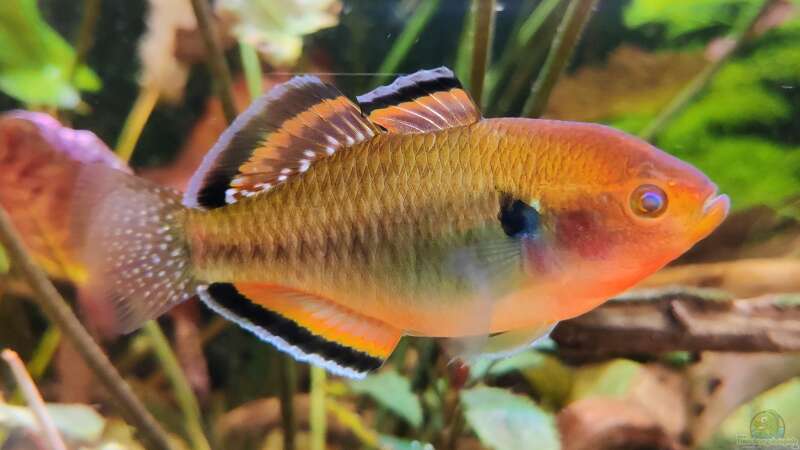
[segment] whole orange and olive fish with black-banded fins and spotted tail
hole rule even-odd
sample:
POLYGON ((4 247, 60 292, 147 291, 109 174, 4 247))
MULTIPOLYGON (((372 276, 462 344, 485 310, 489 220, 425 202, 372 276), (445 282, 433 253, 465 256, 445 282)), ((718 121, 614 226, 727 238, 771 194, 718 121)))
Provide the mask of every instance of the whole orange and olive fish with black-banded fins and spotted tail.
POLYGON ((599 124, 483 118, 445 67, 350 100, 297 76, 255 100, 185 193, 77 174, 84 287, 130 332, 206 306, 299 361, 360 378, 402 336, 502 357, 657 271, 729 198, 599 124))

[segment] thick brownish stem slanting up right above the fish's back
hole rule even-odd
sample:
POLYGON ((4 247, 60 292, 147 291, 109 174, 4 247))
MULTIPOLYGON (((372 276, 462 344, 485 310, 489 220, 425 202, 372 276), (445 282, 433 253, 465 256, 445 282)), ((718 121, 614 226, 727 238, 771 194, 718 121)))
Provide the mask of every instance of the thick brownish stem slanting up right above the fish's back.
POLYGON ((531 93, 522 108, 525 117, 539 117, 547 106, 550 92, 558 77, 569 63, 573 50, 583 33, 583 29, 594 11, 597 0, 571 0, 564 18, 558 26, 556 36, 550 45, 542 71, 533 83, 531 93))

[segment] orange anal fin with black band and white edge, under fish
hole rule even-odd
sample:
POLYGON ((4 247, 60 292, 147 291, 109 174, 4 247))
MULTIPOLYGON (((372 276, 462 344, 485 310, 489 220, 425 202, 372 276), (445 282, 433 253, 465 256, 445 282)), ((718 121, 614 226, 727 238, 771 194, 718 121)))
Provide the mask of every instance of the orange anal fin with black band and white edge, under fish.
POLYGON ((199 289, 212 310, 300 361, 361 378, 378 369, 401 331, 337 303, 260 283, 212 283, 199 289))

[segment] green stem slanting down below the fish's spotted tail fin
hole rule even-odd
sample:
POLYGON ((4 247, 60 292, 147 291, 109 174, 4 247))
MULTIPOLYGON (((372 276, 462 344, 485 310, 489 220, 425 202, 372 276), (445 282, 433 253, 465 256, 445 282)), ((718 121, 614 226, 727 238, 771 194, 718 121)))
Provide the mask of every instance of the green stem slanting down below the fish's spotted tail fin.
POLYGON ((189 381, 186 379, 183 370, 181 370, 167 337, 164 336, 161 327, 154 320, 147 321, 142 327, 142 332, 150 340, 153 351, 161 363, 172 389, 175 390, 175 398, 178 400, 178 405, 180 405, 183 413, 186 431, 192 442, 192 448, 194 450, 211 450, 211 446, 203 433, 203 419, 200 414, 197 397, 195 397, 192 388, 189 386, 189 381))

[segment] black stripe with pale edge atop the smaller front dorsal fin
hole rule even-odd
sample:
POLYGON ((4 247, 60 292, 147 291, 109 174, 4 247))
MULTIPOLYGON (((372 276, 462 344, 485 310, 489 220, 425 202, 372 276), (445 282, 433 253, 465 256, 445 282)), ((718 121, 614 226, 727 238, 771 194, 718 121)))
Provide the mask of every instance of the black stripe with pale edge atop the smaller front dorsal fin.
POLYGON ((419 97, 430 95, 434 92, 449 91, 453 88, 461 89, 461 82, 450 69, 438 69, 417 73, 398 78, 388 86, 381 86, 371 92, 357 97, 361 111, 369 115, 376 109, 394 106, 419 97))

